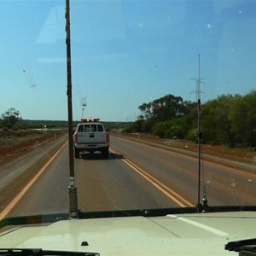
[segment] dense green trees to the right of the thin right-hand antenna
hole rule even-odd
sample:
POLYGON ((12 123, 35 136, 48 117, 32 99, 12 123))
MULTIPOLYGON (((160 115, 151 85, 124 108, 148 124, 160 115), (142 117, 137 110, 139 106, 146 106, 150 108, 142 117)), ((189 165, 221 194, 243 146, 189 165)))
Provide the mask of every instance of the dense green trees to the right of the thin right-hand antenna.
POLYGON ((246 96, 223 95, 202 108, 204 143, 249 146, 256 144, 256 91, 246 96))

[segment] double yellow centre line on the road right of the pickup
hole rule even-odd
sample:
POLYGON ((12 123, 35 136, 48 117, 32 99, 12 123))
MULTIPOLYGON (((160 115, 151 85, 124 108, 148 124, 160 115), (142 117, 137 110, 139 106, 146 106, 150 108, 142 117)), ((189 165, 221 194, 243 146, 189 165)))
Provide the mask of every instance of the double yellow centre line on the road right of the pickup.
MULTIPOLYGON (((119 154, 113 148, 109 149, 113 154, 119 154)), ((131 160, 123 159, 122 161, 125 162, 126 165, 130 166, 135 172, 140 174, 149 183, 153 184, 155 188, 159 189, 162 193, 164 193, 167 197, 169 197, 172 201, 177 203, 179 207, 194 207, 194 205, 183 198, 183 196, 177 194, 177 192, 173 191, 172 189, 168 188, 164 183, 161 183, 160 180, 150 175, 148 172, 145 172, 141 167, 137 166, 131 160)))

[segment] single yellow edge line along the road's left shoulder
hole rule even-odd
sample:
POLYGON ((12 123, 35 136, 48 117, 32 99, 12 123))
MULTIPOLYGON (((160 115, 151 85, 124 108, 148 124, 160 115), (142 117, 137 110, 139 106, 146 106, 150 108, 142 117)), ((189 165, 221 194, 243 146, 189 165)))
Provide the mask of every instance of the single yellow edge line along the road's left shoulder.
POLYGON ((20 201, 20 199, 22 198, 23 195, 26 194, 26 191, 28 189, 30 189, 32 187, 32 184, 36 182, 36 180, 38 179, 38 177, 41 176, 41 174, 46 170, 46 168, 49 166, 49 164, 55 160, 55 157, 61 152, 61 150, 63 148, 66 147, 68 141, 66 143, 64 143, 62 145, 62 147, 48 160, 48 162, 40 169, 40 171, 34 176, 32 177, 31 181, 29 183, 26 184, 26 186, 20 191, 20 193, 18 195, 15 196, 15 198, 13 199, 13 201, 11 201, 9 203, 9 205, 7 207, 5 207, 5 209, 3 210, 3 212, 0 213, 0 220, 5 218, 9 212, 15 207, 15 205, 20 201))

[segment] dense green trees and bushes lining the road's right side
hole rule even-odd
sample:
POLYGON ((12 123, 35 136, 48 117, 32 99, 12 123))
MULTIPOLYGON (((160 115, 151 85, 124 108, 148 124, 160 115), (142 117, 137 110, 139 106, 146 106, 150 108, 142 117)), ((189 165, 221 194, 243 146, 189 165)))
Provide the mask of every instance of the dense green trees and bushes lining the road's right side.
MULTIPOLYGON (((197 103, 171 94, 138 107, 137 121, 125 133, 197 142, 197 103)), ((202 143, 256 147, 256 90, 245 96, 222 95, 201 105, 202 143)))

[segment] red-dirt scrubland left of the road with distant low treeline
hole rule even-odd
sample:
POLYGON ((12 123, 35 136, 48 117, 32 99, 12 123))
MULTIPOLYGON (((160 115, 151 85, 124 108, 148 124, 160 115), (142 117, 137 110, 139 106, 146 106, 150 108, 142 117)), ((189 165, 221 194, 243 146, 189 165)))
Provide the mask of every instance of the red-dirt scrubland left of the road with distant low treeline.
MULTIPOLYGON (((73 127, 79 121, 73 121, 73 127)), ((131 123, 103 122, 110 131, 119 131, 131 123)), ((22 119, 20 111, 9 108, 0 116, 0 165, 15 155, 22 154, 43 143, 67 135, 66 120, 28 120, 22 119)))

